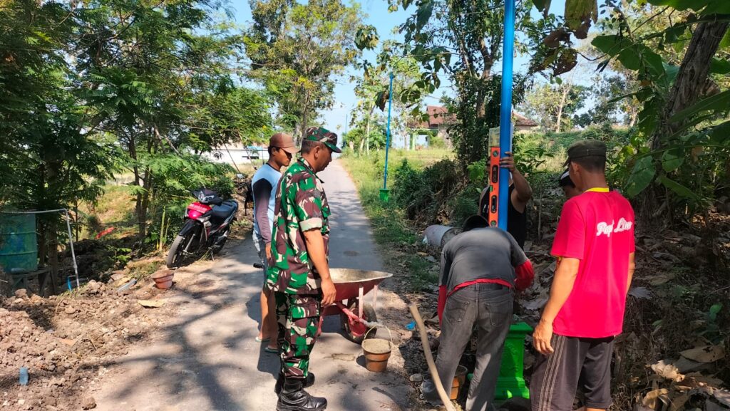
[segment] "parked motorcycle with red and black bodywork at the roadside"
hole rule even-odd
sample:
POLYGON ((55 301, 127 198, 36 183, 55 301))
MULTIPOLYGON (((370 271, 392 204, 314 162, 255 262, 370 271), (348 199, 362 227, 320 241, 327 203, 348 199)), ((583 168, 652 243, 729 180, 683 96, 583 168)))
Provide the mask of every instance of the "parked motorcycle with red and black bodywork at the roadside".
POLYGON ((218 193, 207 188, 193 190, 191 194, 198 201, 185 209, 183 228, 167 253, 165 263, 171 269, 200 250, 218 253, 226 244, 231 225, 236 220, 237 201, 223 200, 218 193))

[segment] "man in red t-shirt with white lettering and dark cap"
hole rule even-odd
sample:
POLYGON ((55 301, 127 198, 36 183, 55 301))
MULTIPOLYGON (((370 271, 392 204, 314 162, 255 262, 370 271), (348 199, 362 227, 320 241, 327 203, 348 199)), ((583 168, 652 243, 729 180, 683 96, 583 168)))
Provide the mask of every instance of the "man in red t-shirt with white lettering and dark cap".
POLYGON ((606 183, 606 145, 575 142, 570 179, 582 194, 566 201, 551 254, 550 299, 533 334, 542 354, 530 384, 533 411, 572 411, 580 383, 586 411, 611 405, 613 338, 621 334, 634 274, 634 210, 606 183))

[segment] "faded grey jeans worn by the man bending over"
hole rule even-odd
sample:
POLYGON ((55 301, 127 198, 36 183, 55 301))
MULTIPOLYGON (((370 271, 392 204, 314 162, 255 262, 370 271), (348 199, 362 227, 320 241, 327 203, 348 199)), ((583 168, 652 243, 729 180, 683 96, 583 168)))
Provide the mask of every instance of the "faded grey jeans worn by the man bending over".
MULTIPOLYGON (((439 354, 436 368, 446 393, 472 330, 477 331, 477 364, 469 386, 466 411, 493 410, 494 391, 502 349, 512 323, 512 290, 496 289, 491 283, 479 283, 461 288, 446 301, 441 324, 439 354)), ((431 380, 423 383, 423 398, 439 404, 439 395, 431 380)))

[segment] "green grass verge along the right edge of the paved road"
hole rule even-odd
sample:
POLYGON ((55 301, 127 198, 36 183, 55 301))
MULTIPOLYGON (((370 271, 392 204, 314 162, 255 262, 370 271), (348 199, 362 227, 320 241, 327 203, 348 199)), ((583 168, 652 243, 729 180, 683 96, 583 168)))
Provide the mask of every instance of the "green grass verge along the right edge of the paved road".
MULTIPOLYGON (((416 168, 433 164, 444 157, 453 156, 449 150, 393 150, 388 155, 388 187, 392 180, 394 168, 401 164, 404 158, 416 168)), ((375 242, 380 245, 385 266, 396 277, 404 291, 420 291, 424 287, 437 285, 438 274, 432 269, 434 263, 426 260, 429 247, 421 243, 420 233, 412 228, 393 199, 389 203, 380 201, 380 188, 383 188, 383 166, 385 155, 371 153, 370 157, 356 157, 343 155, 342 164, 358 188, 365 214, 370 219, 375 242)))

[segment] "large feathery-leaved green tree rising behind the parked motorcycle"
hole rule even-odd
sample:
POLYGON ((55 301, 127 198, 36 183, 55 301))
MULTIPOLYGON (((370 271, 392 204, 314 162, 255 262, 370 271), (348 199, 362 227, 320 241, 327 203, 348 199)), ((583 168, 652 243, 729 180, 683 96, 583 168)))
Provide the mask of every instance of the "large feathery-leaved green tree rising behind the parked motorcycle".
POLYGON ((117 137, 121 162, 134 174, 139 239, 161 184, 155 164, 188 147, 256 141, 269 126, 264 99, 233 85, 230 61, 241 57, 241 38, 211 17, 217 7, 93 0, 77 12, 77 81, 87 91, 90 127, 117 137))

